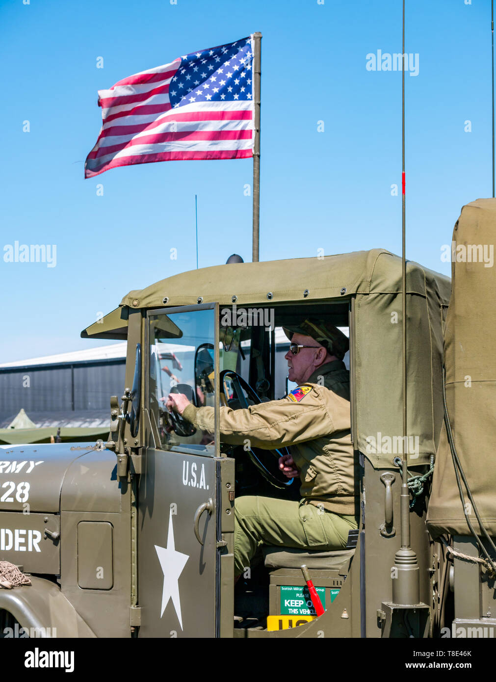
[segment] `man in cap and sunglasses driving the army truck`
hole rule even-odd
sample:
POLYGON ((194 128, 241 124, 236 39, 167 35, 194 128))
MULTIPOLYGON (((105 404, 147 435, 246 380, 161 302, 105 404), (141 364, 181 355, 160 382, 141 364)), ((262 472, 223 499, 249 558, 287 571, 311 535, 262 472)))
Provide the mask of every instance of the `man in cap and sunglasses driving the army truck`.
MULTIPOLYGON (((340 550, 357 528, 349 372, 342 361, 349 340, 322 319, 285 328, 289 381, 298 387, 281 400, 233 410, 220 407, 222 441, 250 447, 289 447, 279 460, 288 477, 300 477, 300 502, 264 496, 235 501, 235 576, 263 544, 304 550, 340 550)), ((214 408, 195 407, 182 394, 166 402, 197 428, 214 432, 214 408)))

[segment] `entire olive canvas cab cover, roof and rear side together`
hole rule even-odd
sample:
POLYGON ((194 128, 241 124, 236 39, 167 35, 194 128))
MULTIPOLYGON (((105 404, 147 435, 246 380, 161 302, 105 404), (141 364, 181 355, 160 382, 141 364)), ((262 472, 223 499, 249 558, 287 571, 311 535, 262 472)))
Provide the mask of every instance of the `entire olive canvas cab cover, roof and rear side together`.
MULTIPOLYGON (((407 263, 409 463, 435 454, 442 423, 442 319, 450 279, 407 263)), ((217 301, 237 306, 355 297, 354 360, 358 449, 375 466, 394 466, 403 435, 401 258, 382 249, 192 270, 140 291, 121 306, 162 308, 217 301), (306 291, 308 290, 308 291, 306 291), (271 296, 267 297, 267 293, 271 296), (269 303, 270 301, 270 303, 269 303)), ((402 441, 403 445, 403 441, 402 441)))

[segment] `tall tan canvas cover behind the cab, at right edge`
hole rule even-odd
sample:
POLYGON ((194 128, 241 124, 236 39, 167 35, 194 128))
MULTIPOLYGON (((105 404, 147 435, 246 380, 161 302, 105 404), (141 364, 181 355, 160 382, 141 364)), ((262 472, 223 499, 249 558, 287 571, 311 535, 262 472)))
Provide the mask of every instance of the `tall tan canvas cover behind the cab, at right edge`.
MULTIPOLYGON (((446 401, 454 445, 488 533, 496 535, 496 200, 463 207, 452 238, 452 297, 444 330, 446 401)), ((465 500, 467 490, 462 482, 465 500)), ((474 529, 477 518, 467 508, 474 529)), ((428 529, 470 535, 443 425, 428 505, 428 529)))

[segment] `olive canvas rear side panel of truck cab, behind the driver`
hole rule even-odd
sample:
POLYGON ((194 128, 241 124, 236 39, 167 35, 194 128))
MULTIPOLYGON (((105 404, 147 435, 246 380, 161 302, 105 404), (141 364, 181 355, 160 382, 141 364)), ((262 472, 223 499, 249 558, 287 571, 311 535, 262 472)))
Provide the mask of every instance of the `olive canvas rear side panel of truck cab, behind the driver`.
MULTIPOLYGON (((370 291, 355 305, 358 449, 376 467, 435 454, 443 420, 442 325, 450 280, 407 262, 407 436, 403 442, 401 258, 377 259, 370 291)), ((395 467, 396 469, 396 467, 395 467)))

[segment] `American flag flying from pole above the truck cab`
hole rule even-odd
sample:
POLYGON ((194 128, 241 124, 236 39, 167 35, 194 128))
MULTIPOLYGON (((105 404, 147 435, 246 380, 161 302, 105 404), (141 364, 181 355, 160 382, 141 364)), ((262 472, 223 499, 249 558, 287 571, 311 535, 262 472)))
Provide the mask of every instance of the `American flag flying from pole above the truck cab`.
POLYGON ((102 130, 85 177, 154 161, 252 156, 252 36, 191 53, 99 90, 102 130))

